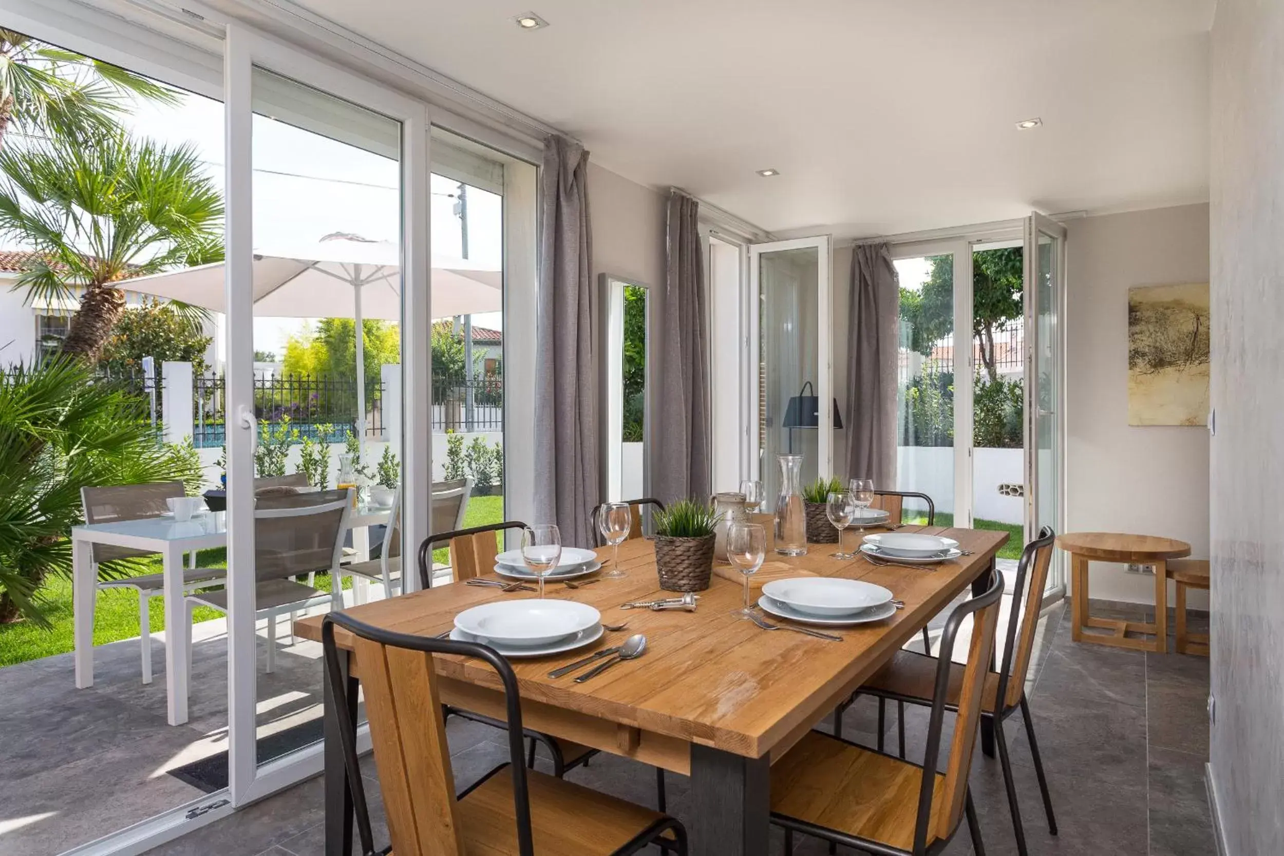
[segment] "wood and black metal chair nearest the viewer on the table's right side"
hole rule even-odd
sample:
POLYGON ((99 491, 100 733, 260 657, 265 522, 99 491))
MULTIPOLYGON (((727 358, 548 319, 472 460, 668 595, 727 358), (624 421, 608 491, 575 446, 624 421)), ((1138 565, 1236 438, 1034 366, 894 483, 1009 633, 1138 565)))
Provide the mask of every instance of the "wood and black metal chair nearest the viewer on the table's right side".
POLYGON ((845 844, 886 856, 939 853, 950 843, 964 815, 976 856, 985 856, 968 773, 1002 595, 1003 576, 991 571, 985 593, 954 607, 945 622, 922 765, 814 730, 772 765, 772 823, 786 830, 786 856, 792 856, 794 833, 823 838, 831 850, 845 844), (937 773, 937 764, 953 676, 950 656, 967 617, 973 619, 972 634, 942 774, 937 773), (912 812, 905 802, 913 798, 915 782, 918 806, 912 812), (817 800, 818 792, 824 793, 823 800, 817 800), (845 806, 850 811, 844 811, 845 806))

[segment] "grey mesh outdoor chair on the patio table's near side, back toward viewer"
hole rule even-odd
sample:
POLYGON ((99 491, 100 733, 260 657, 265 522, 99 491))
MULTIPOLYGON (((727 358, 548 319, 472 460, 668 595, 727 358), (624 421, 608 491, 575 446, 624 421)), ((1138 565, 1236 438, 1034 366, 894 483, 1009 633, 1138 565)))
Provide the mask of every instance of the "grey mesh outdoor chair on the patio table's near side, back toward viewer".
MULTIPOLYGON (((295 497, 261 497, 254 507, 254 604, 267 616, 267 671, 276 667, 276 622, 282 613, 326 602, 343 608, 343 535, 352 512, 352 490, 317 490, 295 497), (298 583, 304 574, 327 571, 330 592, 298 583)), ((196 592, 191 603, 227 612, 227 589, 196 592)), ((191 657, 191 647, 187 647, 191 657)), ((191 675, 189 663, 187 675, 191 675)))

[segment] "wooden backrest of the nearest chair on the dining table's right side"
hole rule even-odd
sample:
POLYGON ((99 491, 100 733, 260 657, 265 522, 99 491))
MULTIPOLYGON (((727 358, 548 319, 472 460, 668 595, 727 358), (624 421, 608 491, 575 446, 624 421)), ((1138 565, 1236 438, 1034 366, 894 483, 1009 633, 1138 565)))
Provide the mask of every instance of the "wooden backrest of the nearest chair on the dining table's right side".
POLYGON ((927 751, 923 753, 923 779, 919 789, 918 819, 914 829, 914 853, 926 851, 928 832, 936 838, 949 838, 963 817, 967 801, 967 780, 972 769, 972 749, 976 747, 977 726, 981 721, 981 706, 985 679, 990 674, 990 656, 994 653, 994 633, 999 624, 999 603, 1003 597, 1003 575, 991 572, 990 585, 984 594, 964 601, 954 607, 941 633, 941 651, 936 667, 936 681, 932 697, 931 717, 927 726, 927 751), (954 733, 950 738, 950 755, 945 765, 944 783, 940 794, 936 792, 937 766, 940 762, 941 732, 945 723, 945 705, 949 696, 951 657, 954 640, 963 620, 972 616, 972 635, 968 642, 967 663, 963 666, 963 681, 958 696, 958 715, 954 720, 954 733), (935 798, 940 800, 933 807, 935 798), (936 816, 936 829, 931 830, 931 819, 936 816))

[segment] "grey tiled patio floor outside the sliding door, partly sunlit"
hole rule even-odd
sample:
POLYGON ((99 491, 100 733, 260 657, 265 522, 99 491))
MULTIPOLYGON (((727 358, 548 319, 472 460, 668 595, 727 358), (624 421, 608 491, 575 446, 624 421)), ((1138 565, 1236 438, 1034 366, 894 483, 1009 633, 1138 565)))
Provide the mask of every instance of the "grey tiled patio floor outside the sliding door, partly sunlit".
MULTIPOLYGON (((180 726, 166 723, 163 631, 152 635, 157 674, 148 685, 137 639, 95 648, 90 689, 76 689, 71 653, 0 669, 0 852, 63 852, 218 789, 225 628, 221 619, 193 626, 190 720, 180 726)), ((284 620, 279 629, 288 633, 284 620)), ((321 646, 279 639, 276 671, 267 674, 262 622, 259 639, 259 758, 267 760, 320 737, 321 646)))

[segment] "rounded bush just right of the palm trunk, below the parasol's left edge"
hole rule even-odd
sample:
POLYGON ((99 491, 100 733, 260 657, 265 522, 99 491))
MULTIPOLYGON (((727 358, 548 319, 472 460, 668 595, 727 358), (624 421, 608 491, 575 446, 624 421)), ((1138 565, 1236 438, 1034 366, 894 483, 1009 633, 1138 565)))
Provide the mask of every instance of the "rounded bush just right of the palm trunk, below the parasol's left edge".
POLYGON ((157 371, 167 361, 191 363, 195 375, 205 373, 205 350, 213 336, 207 336, 200 321, 171 303, 155 298, 144 300, 136 309, 126 309, 116 322, 112 336, 103 345, 99 364, 113 375, 143 367, 143 358, 155 359, 157 371))

